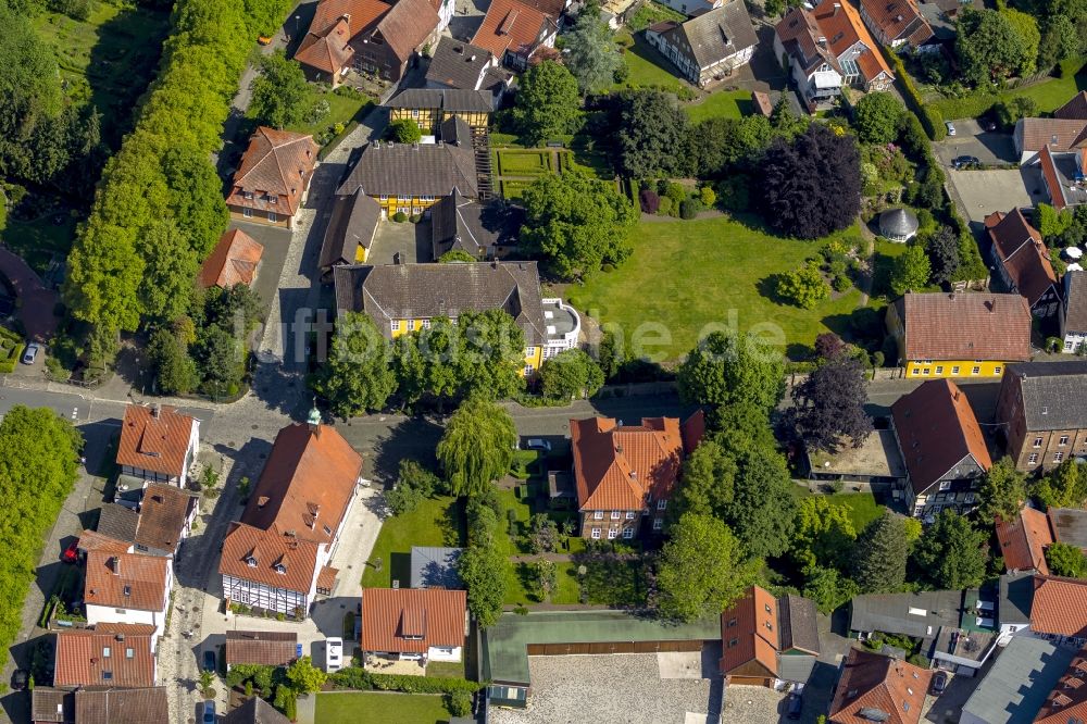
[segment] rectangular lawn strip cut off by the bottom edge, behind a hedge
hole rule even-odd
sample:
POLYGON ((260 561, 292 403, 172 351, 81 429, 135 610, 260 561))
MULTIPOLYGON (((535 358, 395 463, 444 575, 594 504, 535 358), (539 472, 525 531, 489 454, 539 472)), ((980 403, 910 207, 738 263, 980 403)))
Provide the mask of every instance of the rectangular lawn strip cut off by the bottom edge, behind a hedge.
POLYGON ((450 719, 438 695, 336 691, 316 697, 314 720, 320 724, 435 724, 450 719))

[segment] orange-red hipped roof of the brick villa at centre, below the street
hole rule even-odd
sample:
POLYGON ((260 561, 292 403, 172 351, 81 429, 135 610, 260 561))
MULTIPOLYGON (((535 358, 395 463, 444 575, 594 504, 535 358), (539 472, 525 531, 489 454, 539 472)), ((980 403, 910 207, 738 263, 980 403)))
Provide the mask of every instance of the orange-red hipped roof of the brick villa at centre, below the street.
POLYGON ((570 440, 580 510, 640 511, 648 496, 667 499, 686 449, 676 417, 642 417, 640 425, 571 420, 570 440))

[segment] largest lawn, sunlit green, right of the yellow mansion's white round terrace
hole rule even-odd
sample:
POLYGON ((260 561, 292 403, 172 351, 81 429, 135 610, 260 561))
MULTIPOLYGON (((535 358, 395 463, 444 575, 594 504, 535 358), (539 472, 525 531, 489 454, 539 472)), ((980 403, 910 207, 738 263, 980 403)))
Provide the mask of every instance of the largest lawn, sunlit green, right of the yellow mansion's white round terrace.
POLYGON ((821 242, 774 237, 753 217, 748 223, 724 216, 641 222, 632 233, 632 257, 570 287, 569 299, 597 322, 617 325, 627 345, 660 362, 680 359, 702 332, 729 326, 730 317, 741 332, 762 323, 784 333, 794 359, 823 332, 847 333, 857 289, 812 310, 774 299, 773 276, 803 264, 821 242))

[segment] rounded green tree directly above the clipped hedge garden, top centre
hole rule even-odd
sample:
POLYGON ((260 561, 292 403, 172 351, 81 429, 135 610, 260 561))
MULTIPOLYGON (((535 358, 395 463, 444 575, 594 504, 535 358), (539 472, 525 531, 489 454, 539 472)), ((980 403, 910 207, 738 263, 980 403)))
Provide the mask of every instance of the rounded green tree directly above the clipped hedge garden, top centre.
POLYGON ((530 146, 571 133, 580 115, 577 79, 564 65, 544 61, 521 76, 512 116, 530 146))

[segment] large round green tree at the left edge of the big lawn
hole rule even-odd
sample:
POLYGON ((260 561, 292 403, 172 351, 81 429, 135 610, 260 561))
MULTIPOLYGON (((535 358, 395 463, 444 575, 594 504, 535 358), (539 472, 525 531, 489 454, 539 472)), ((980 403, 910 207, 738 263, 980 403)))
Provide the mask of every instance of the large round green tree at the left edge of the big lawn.
POLYGON ((545 174, 525 189, 522 202, 522 244, 545 254, 564 279, 590 276, 601 264, 620 264, 630 255, 627 235, 637 213, 614 184, 582 173, 545 174))

